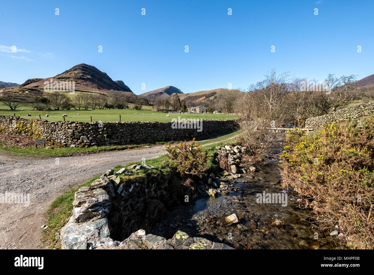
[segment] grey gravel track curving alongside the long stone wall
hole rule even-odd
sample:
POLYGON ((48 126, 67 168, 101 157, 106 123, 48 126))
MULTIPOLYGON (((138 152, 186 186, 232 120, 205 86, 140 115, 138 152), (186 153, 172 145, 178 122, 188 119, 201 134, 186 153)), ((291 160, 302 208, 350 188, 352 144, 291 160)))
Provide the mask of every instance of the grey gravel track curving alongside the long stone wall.
POLYGON ((64 191, 116 165, 165 153, 165 145, 58 159, 0 152, 0 193, 25 194, 22 197, 26 201, 0 203, 0 249, 43 248, 40 237, 41 226, 46 223, 44 214, 64 191))

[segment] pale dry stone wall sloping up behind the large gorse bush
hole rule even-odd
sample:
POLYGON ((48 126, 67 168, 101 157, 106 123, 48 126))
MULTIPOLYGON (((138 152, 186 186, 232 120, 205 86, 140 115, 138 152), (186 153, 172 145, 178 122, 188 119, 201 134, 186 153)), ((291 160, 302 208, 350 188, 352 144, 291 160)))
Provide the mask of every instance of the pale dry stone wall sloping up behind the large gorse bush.
POLYGON ((323 116, 311 117, 306 120, 306 128, 318 129, 325 124, 343 122, 345 120, 356 119, 374 113, 374 102, 359 104, 348 108, 340 109, 323 116))

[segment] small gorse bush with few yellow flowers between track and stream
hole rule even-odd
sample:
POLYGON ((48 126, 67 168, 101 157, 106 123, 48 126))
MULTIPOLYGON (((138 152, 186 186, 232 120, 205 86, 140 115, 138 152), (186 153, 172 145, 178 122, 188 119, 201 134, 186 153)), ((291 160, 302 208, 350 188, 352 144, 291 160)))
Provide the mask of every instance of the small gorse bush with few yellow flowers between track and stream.
POLYGON ((180 142, 178 145, 171 146, 168 143, 166 151, 169 152, 169 158, 175 165, 181 176, 186 174, 200 175, 207 169, 207 155, 202 147, 196 143, 195 138, 192 141, 180 142))

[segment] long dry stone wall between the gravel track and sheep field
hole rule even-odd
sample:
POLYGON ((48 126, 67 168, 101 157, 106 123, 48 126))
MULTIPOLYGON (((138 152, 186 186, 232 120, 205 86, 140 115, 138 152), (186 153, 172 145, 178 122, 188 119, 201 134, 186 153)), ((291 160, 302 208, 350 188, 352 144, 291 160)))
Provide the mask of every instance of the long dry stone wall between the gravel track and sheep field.
POLYGON ((63 147, 188 140, 236 127, 236 120, 201 120, 187 125, 183 122, 53 122, 0 115, 0 132, 46 138, 48 144, 61 144, 63 147))

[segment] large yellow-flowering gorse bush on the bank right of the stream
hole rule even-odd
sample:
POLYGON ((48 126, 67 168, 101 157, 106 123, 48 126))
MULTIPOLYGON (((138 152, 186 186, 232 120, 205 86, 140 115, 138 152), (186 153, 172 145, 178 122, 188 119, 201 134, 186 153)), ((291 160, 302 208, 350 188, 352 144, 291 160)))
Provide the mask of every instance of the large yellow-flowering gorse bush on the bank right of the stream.
POLYGON ((373 249, 374 118, 325 125, 314 137, 294 131, 287 141, 283 187, 294 187, 321 230, 337 229, 350 248, 373 249))

